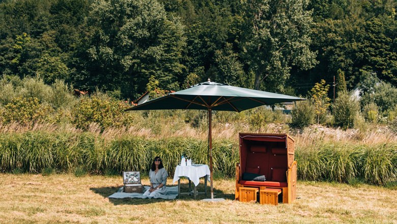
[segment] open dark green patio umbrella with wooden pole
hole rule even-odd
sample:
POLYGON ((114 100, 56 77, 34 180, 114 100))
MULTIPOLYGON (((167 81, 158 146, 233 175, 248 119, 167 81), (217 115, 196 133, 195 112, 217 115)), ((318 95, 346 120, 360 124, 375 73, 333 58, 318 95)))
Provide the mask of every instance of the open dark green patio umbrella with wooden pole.
POLYGON ((188 89, 159 97, 126 110, 203 109, 208 111, 208 145, 210 153, 211 199, 214 198, 212 173, 212 110, 240 112, 262 105, 305 100, 299 97, 233 87, 212 82, 198 83, 188 89))

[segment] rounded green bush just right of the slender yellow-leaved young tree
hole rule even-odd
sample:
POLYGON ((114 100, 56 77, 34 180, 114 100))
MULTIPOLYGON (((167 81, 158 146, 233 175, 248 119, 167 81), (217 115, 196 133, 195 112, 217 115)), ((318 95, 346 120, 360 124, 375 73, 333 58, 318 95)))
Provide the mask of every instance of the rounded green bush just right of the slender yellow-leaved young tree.
POLYGON ((354 126, 354 118, 359 112, 360 105, 356 98, 349 94, 341 94, 333 103, 332 114, 335 119, 335 125, 343 128, 354 126))

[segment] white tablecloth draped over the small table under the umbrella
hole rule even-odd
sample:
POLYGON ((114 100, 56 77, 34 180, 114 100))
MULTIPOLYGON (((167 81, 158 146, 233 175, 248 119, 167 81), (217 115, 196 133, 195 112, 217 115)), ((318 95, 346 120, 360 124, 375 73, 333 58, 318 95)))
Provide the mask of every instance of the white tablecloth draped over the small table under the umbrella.
POLYGON ((210 180, 211 173, 208 165, 177 165, 174 174, 174 183, 179 180, 179 177, 188 177, 194 183, 194 185, 197 186, 200 183, 200 178, 206 175, 208 175, 207 178, 210 180))

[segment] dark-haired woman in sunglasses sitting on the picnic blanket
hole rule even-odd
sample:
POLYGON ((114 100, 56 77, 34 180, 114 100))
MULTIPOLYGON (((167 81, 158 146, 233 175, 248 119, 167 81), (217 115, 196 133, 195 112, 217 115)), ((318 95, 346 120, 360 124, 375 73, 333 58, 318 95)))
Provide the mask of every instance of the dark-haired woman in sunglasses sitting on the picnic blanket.
POLYGON ((167 177, 168 174, 164 169, 161 158, 156 156, 149 171, 150 189, 148 189, 144 195, 149 198, 153 198, 157 195, 165 194, 165 183, 167 182, 167 177))

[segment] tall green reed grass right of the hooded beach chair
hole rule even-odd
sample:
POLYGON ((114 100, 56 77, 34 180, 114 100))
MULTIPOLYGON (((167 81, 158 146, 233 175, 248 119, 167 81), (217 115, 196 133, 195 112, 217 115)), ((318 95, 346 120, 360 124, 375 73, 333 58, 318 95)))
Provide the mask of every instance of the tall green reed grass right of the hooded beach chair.
POLYGON ((298 147, 298 177, 336 182, 361 179, 383 185, 397 178, 396 150, 395 144, 320 143, 313 147, 298 147))

